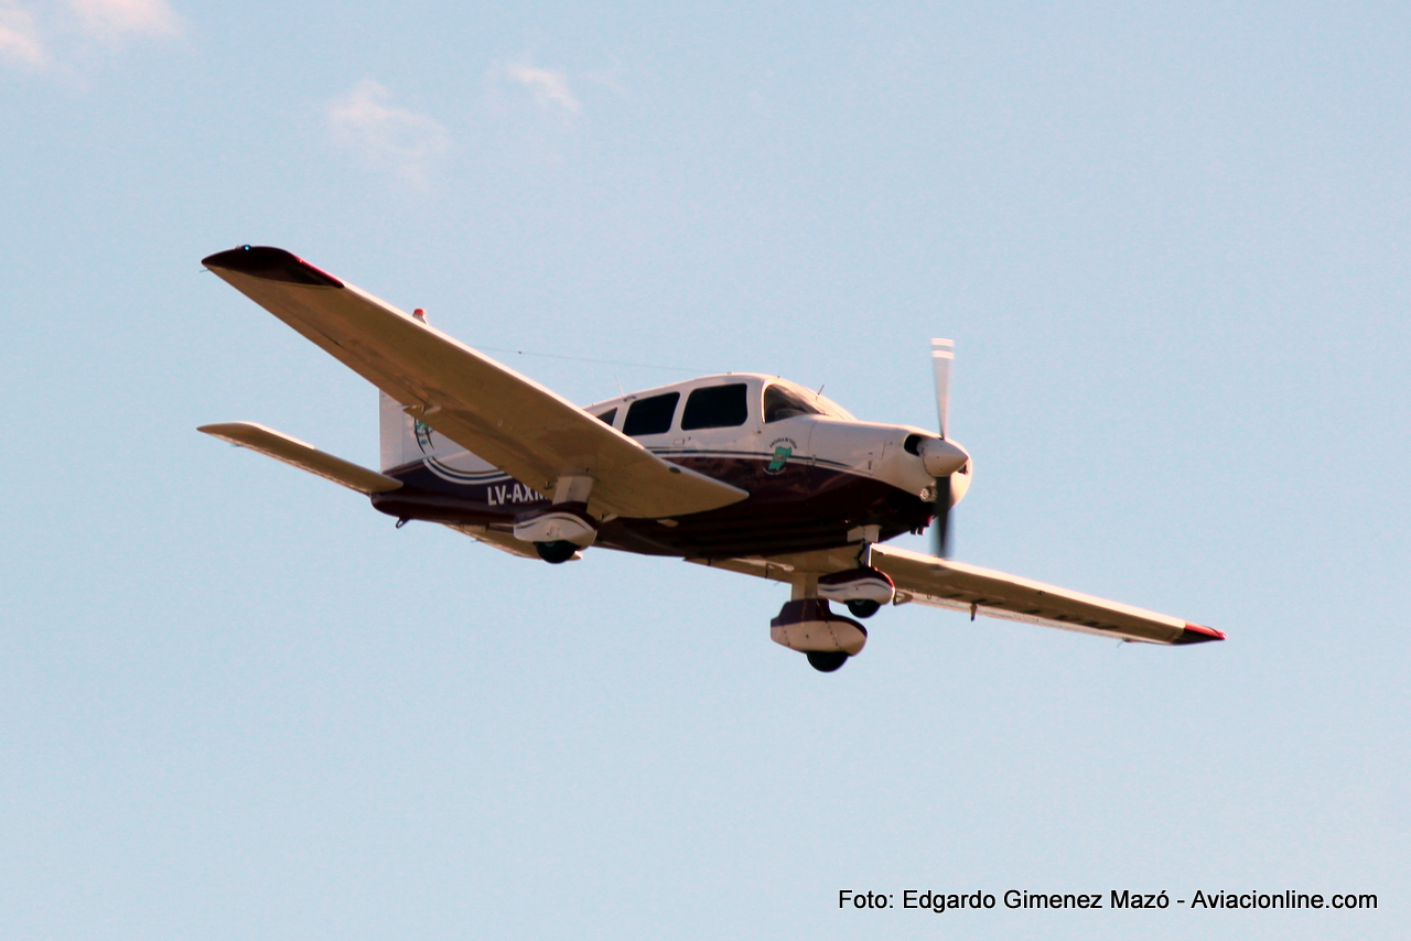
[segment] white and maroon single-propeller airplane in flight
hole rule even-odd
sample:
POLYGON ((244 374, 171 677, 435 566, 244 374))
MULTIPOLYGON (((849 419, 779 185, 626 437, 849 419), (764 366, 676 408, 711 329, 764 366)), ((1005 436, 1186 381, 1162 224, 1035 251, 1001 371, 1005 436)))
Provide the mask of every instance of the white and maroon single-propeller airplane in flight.
POLYGON ((282 248, 202 264, 381 391, 381 470, 251 422, 200 432, 560 564, 590 546, 674 556, 790 585, 770 638, 823 672, 861 653, 868 619, 916 602, 1163 645, 1213 628, 948 557, 974 477, 947 436, 954 344, 933 340, 937 430, 859 422, 787 380, 706 375, 584 408, 282 248), (931 529, 935 552, 885 545, 931 529), (838 602, 852 618, 835 611, 838 602))

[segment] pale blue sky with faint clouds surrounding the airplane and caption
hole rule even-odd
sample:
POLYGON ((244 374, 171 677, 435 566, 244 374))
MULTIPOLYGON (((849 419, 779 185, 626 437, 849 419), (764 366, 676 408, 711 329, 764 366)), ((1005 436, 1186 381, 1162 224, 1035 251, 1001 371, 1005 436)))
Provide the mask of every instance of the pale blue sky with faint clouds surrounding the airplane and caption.
POLYGON ((1393 3, 0 0, 0 935, 1404 937, 1408 48, 1393 3), (375 391, 202 271, 246 243, 583 403, 759 371, 931 427, 954 337, 955 556, 1229 639, 904 605, 825 676, 780 585, 394 530, 195 432, 377 463, 375 391), (1285 889, 1379 906, 1108 896, 1285 889))

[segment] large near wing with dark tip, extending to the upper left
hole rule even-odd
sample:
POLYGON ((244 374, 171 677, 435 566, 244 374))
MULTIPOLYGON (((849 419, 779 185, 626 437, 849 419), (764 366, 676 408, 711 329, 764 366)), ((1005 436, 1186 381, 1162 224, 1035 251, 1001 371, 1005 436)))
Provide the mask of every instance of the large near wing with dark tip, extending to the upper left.
POLYGON ((749 494, 663 461, 567 399, 282 248, 222 251, 203 264, 406 411, 515 480, 552 492, 591 477, 590 505, 680 516, 749 494))

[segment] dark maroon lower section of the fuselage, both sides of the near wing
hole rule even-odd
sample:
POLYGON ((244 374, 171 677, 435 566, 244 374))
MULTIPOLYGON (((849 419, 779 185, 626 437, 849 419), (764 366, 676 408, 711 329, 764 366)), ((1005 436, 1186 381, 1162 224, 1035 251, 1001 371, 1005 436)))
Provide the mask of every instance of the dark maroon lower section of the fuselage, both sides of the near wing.
MULTIPOLYGON (((598 528, 598 546, 650 556, 724 559, 831 549, 848 530, 875 525, 882 539, 924 526, 931 505, 871 477, 806 461, 768 470, 769 460, 728 456, 673 456, 673 461, 749 491, 749 498, 676 525, 655 519, 614 519, 598 528)), ((425 466, 389 471, 404 487, 374 494, 384 514, 429 522, 504 526, 547 499, 501 477, 495 482, 453 484, 425 466), (518 487, 518 491, 516 491, 518 487), (518 498, 518 499, 516 499, 518 498)))

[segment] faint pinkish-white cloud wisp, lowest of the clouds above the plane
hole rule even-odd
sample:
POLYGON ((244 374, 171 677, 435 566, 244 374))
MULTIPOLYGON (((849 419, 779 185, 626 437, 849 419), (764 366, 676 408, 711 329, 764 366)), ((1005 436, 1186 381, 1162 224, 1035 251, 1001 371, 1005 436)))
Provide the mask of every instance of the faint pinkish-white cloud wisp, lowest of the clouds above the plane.
POLYGON ((363 79, 329 106, 333 140, 425 188, 432 166, 450 150, 449 135, 440 123, 391 102, 391 92, 363 79))

